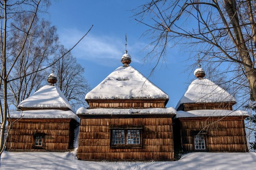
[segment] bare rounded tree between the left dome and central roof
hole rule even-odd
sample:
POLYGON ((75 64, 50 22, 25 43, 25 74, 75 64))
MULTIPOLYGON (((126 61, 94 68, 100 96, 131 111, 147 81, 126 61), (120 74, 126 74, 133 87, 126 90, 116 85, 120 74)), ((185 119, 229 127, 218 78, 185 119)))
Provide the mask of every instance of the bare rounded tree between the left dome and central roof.
MULTIPOLYGON (((63 46, 58 56, 67 52, 63 46)), ((58 77, 56 85, 61 89, 67 100, 75 109, 84 106, 84 94, 90 91, 90 85, 84 78, 84 68, 77 63, 76 58, 69 52, 54 65, 58 77)))

